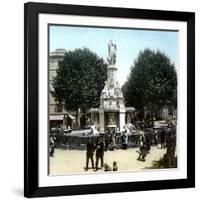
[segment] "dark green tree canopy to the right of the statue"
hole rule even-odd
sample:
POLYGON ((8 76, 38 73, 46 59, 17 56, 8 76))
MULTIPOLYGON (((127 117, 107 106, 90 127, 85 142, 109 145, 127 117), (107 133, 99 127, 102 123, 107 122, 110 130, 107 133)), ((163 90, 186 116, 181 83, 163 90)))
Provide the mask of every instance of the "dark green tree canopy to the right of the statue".
POLYGON ((160 51, 141 51, 122 87, 127 106, 136 109, 176 107, 177 74, 169 57, 160 51))

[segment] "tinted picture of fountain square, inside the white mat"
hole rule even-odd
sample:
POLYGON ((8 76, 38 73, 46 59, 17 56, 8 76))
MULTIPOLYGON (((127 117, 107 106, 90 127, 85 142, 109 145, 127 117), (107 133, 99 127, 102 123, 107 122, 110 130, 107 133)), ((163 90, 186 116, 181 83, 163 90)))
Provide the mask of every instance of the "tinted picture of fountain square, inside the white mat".
POLYGON ((178 32, 48 25, 49 175, 178 167, 178 32))

